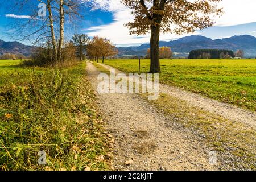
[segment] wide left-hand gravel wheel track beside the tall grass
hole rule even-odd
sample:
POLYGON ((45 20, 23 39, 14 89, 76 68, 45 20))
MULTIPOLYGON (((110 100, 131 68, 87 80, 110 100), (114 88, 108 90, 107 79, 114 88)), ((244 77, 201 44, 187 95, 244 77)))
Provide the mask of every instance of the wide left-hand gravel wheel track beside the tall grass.
MULTIPOLYGON (((97 89, 100 72, 89 62, 87 69, 97 89)), ((135 94, 98 94, 98 105, 115 139, 114 169, 216 170, 222 166, 209 164, 210 150, 203 138, 135 94)))

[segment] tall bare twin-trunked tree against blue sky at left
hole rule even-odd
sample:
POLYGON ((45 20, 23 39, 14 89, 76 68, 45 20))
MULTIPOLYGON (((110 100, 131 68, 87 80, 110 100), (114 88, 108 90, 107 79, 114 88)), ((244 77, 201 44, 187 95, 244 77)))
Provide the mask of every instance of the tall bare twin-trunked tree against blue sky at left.
POLYGON ((53 49, 52 61, 54 64, 61 64, 65 22, 75 22, 72 19, 80 16, 81 7, 85 6, 85 3, 80 0, 10 0, 10 2, 18 7, 19 10, 15 9, 16 11, 29 14, 27 19, 19 19, 10 25, 11 30, 14 30, 10 34, 19 40, 32 40, 33 44, 49 42, 50 38, 53 49), (45 16, 38 16, 36 7, 39 3, 46 7, 45 16))

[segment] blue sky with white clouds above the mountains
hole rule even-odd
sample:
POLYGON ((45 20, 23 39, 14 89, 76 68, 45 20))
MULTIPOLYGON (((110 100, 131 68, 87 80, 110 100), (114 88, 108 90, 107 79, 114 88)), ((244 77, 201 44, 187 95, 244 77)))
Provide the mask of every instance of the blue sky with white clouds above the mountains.
MULTIPOLYGON (((121 0, 94 0, 94 4, 93 9, 84 10, 86 11, 84 19, 81 19, 79 28, 74 32, 88 34, 90 37, 98 35, 108 38, 118 47, 138 46, 149 42, 150 34, 129 35, 128 28, 123 24, 132 21, 133 16, 130 14, 131 10, 127 9, 121 0)), ((212 39, 245 34, 256 36, 255 0, 222 0, 219 6, 224 7, 224 14, 221 18, 214 18, 216 22, 214 27, 196 31, 193 35, 203 35, 212 39)), ((5 34, 5 26, 16 18, 26 19, 29 16, 26 12, 14 14, 5 5, 0 6, 0 39, 12 40, 5 34)), ((174 40, 187 35, 161 34, 160 40, 174 40)))

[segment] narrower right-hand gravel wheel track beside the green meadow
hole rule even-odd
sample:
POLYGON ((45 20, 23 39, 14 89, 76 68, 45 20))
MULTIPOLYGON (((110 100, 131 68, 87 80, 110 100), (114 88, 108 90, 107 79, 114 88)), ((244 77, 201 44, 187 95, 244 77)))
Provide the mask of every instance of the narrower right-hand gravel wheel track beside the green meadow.
MULTIPOLYGON (((100 65, 107 69, 113 68, 105 64, 100 65)), ((115 69, 115 72, 118 72, 117 69, 115 69)), ((164 84, 160 84, 159 89, 160 93, 170 94, 171 96, 187 101, 200 109, 207 110, 210 113, 220 115, 221 117, 228 118, 232 121, 242 122, 247 126, 256 129, 256 114, 253 111, 241 109, 240 107, 231 104, 222 103, 196 93, 187 92, 164 84)))

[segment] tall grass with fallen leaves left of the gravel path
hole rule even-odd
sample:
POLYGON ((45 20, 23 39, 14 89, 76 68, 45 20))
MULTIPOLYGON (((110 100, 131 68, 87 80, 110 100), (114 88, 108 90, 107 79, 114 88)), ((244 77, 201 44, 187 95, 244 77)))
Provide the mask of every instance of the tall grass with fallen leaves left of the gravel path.
POLYGON ((109 169, 108 137, 86 78, 72 68, 0 60, 0 171, 109 169), (47 165, 39 165, 39 151, 47 165))

